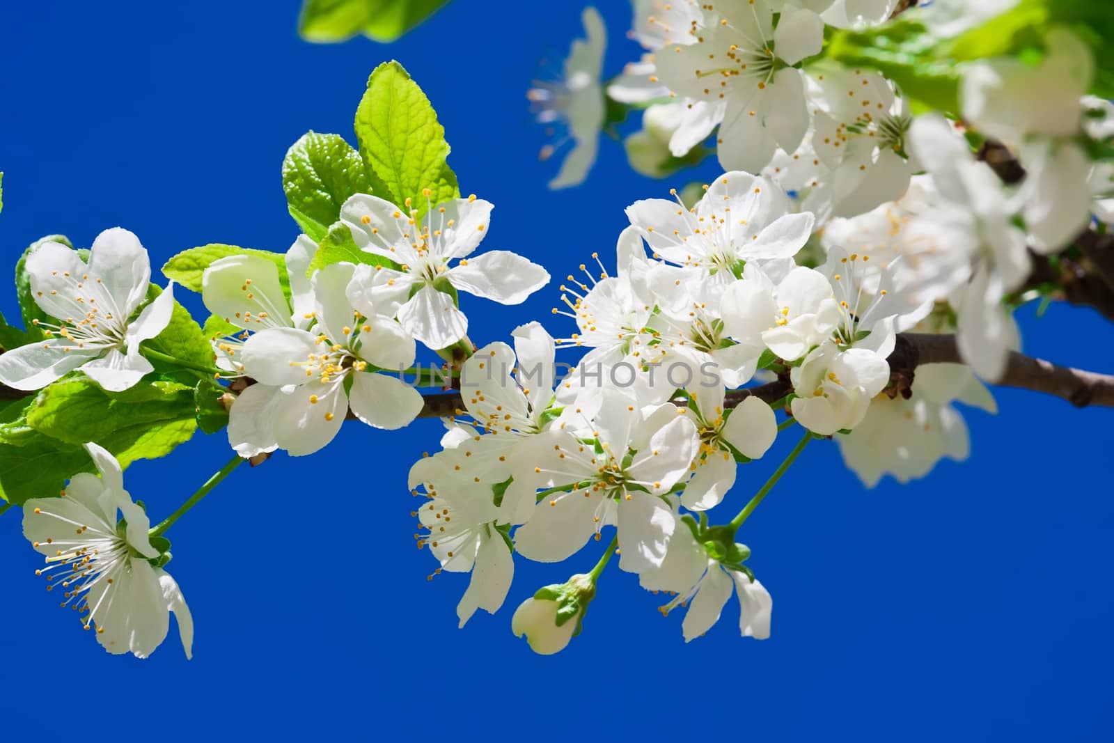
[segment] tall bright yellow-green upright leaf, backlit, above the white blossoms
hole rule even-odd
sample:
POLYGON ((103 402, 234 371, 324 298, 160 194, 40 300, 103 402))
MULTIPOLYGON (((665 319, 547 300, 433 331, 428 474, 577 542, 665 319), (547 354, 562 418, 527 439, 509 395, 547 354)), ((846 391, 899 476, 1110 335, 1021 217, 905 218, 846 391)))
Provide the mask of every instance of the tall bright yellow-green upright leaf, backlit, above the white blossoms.
POLYGON ((434 205, 460 196, 457 176, 446 163, 444 128, 402 65, 383 62, 368 78, 355 111, 355 136, 380 196, 398 205, 412 198, 419 214, 427 207, 423 188, 432 192, 434 205))

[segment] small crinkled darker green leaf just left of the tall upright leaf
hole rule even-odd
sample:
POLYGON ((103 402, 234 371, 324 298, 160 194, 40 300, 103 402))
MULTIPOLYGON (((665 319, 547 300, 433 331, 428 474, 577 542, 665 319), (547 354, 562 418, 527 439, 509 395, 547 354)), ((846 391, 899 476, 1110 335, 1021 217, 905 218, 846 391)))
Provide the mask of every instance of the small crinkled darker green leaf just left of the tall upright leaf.
POLYGON ((303 135, 286 150, 282 187, 291 216, 314 242, 321 242, 329 225, 340 219, 349 196, 371 193, 360 153, 340 135, 315 131, 303 135))

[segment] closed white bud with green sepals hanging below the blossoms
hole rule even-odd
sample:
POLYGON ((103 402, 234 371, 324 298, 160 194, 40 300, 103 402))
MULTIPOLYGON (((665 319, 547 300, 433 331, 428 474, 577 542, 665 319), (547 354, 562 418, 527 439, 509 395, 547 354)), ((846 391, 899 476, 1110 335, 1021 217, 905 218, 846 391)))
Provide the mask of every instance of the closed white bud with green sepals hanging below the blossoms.
POLYGON ((587 575, 546 586, 519 605, 510 630, 516 637, 525 635, 530 649, 539 655, 559 653, 580 634, 584 613, 595 594, 596 584, 587 575))

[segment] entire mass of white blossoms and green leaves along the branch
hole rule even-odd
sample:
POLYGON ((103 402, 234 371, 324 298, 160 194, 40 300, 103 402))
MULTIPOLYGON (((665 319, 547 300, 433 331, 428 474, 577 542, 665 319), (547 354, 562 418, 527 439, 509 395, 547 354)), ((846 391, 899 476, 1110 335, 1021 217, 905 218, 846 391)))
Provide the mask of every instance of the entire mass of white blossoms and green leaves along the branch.
POLYGON ((553 309, 566 327, 553 334, 525 322, 509 343, 469 338, 462 294, 518 305, 549 274, 479 250, 492 204, 460 197, 443 130, 397 62, 369 79, 359 149, 310 133, 287 153, 303 234, 285 254, 193 248, 163 267, 159 289, 125 229, 86 252, 60 236, 29 248, 17 267, 27 327, 0 324, 0 443, 67 469, 26 482, 0 473, 0 514, 22 506, 47 589, 62 589, 62 607, 106 649, 146 657, 174 613, 189 656, 193 620, 164 569, 164 534, 243 461, 314 453, 345 420, 394 431, 441 419, 440 448, 413 463, 409 489, 422 498, 418 546, 437 560, 429 577, 470 574, 461 626, 502 606, 516 554, 595 551, 594 567, 538 589, 511 618, 550 654, 582 630, 615 555, 664 592, 662 614, 687 609, 686 642, 732 595, 740 634, 770 636, 772 598, 736 536, 813 440, 834 439, 872 487, 965 459, 955 403, 994 412, 984 381, 1024 387, 1023 366, 1055 375, 1054 389, 1029 380, 1035 389, 1086 404, 1106 385, 1114 404, 1114 380, 1015 353, 1013 311, 1026 302, 1097 286, 1107 304, 1096 306, 1114 306, 1114 118, 1093 95, 1111 78, 1079 25, 1028 26, 1016 36, 1033 49, 996 41, 1001 53, 978 57, 967 35, 1010 0, 634 4, 638 61, 602 79, 606 32, 589 8, 560 81, 529 94, 540 121, 567 129, 544 156, 574 143, 550 186, 587 175, 623 107, 644 109, 626 141, 641 173, 713 150, 725 172, 625 202, 614 267, 593 253, 567 274, 553 309), (879 49, 895 79, 844 63, 879 49), (941 74, 899 58, 959 61, 941 74), (201 293, 204 326, 176 283, 201 293), (919 356, 945 334, 950 354, 919 356), (422 355, 437 361, 423 368, 422 355), (233 458, 152 527, 123 469, 197 428, 226 429, 233 458), (783 431, 797 443, 766 471, 755 461, 783 431), (753 496, 729 510, 733 489, 753 496))

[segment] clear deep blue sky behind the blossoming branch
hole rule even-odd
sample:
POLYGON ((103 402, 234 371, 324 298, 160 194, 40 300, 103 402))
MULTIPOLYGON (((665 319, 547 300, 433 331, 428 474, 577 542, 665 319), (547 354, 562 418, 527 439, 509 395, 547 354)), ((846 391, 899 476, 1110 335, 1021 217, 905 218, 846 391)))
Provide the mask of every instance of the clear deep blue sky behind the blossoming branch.
MULTIPOLYGON (((554 163, 525 91, 538 59, 578 33, 580 3, 453 0, 402 41, 313 46, 299 3, 8 3, 0 13, 0 257, 48 233, 88 246, 136 232, 157 266, 195 245, 282 251, 297 235, 280 166, 307 129, 354 141, 368 74, 399 59, 440 114, 465 193, 496 204, 487 248, 555 276, 613 255, 623 207, 670 186, 603 144, 588 183, 549 193, 554 163)), ((626 2, 600 10, 608 72, 635 57, 626 2)), ((159 277, 162 281, 162 277, 159 277)), ((183 292, 185 294, 185 292, 183 292)), ((556 287, 506 310, 466 297, 479 343, 538 317, 556 287)), ((197 297, 188 306, 201 307, 197 297)), ((13 290, 0 297, 9 317, 13 290)), ((204 316, 204 315, 201 315, 204 316)), ((1026 349, 1114 371, 1110 326, 1085 310, 1020 313, 1026 349)), ((242 468, 169 532, 173 575, 197 623, 194 659, 172 637, 148 661, 107 655, 33 570, 19 514, 0 517, 0 725, 4 740, 159 741, 237 735, 355 740, 1108 740, 1114 555, 1108 410, 1022 391, 967 414, 971 459, 866 490, 814 443, 747 521, 750 565, 775 599, 773 637, 720 625, 685 645, 681 616, 612 566, 561 654, 510 634, 515 606, 589 568, 516 564, 504 610, 457 629, 467 576, 426 576, 405 470, 437 421, 402 432, 346 424, 307 459, 242 468)), ((740 473, 730 517, 795 436, 740 473)), ((228 457, 198 436, 127 473, 155 520, 228 457)), ((722 519, 725 520, 725 519, 722 519)), ((173 632, 173 630, 172 630, 173 632)))

